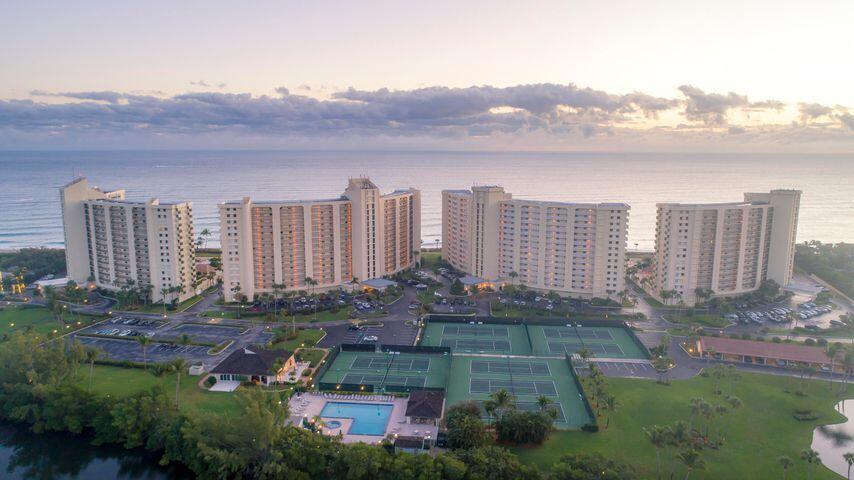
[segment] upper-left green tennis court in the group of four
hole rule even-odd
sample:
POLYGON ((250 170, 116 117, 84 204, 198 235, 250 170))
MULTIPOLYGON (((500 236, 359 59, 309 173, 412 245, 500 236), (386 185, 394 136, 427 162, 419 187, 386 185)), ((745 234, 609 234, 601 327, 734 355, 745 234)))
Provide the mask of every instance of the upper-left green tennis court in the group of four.
POLYGON ((530 355, 524 325, 427 322, 421 345, 450 347, 454 353, 530 355))

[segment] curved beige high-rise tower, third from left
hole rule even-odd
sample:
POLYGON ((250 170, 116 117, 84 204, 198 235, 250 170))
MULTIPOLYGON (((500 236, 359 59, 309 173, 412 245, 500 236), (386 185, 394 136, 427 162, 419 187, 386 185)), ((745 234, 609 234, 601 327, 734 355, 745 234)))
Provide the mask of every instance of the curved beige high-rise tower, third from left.
POLYGON ((513 199, 497 186, 442 192, 442 258, 489 281, 606 297, 625 287, 629 206, 513 199))

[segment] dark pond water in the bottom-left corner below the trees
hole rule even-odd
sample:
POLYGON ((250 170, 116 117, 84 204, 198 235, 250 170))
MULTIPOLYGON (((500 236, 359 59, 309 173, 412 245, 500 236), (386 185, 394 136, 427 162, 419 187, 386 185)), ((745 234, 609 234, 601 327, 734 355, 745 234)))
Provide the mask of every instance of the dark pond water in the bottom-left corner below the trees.
POLYGON ((145 479, 192 478, 182 468, 161 467, 159 456, 119 445, 94 446, 90 437, 32 433, 26 425, 0 422, 0 478, 145 479))

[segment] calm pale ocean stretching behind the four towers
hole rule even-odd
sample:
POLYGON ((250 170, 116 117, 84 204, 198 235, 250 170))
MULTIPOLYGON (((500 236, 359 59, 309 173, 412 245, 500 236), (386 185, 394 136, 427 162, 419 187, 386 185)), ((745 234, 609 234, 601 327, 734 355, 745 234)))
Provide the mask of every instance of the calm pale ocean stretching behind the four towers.
POLYGON ((129 199, 192 201, 196 232, 217 203, 328 198, 348 177, 383 192, 422 192, 422 241, 441 242, 441 191, 502 185, 514 197, 625 202, 630 250, 650 250, 656 202, 739 201, 746 191, 803 191, 798 240, 854 241, 854 155, 364 151, 0 152, 0 250, 63 245, 58 188, 75 175, 129 199))

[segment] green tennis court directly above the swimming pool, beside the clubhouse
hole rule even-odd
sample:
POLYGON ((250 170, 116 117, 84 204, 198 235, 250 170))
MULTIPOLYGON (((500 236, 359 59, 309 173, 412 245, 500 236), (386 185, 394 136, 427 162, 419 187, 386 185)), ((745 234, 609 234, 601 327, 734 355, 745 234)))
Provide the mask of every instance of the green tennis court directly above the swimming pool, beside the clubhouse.
POLYGON ((445 388, 450 364, 445 353, 341 351, 318 385, 321 390, 371 392, 445 388))

